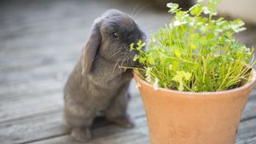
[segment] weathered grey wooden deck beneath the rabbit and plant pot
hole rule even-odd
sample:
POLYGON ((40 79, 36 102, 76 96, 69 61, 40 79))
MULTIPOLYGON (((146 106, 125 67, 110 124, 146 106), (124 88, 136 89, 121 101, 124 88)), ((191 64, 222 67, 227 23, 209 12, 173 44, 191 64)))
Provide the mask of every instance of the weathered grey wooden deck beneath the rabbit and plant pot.
MULTIPOLYGON (((94 18, 110 8, 131 14, 146 3, 106 1, 0 2, 0 143, 76 143, 62 118, 62 88, 90 33, 94 18)), ((137 10, 138 11, 138 10, 137 10)), ((146 7, 135 20, 147 34, 169 15, 146 7)), ((238 35, 256 47, 256 27, 238 35)), ((149 143, 142 99, 134 86, 129 113, 134 129, 97 118, 90 144, 149 143)), ((256 89, 247 102, 237 142, 256 143, 256 89)))

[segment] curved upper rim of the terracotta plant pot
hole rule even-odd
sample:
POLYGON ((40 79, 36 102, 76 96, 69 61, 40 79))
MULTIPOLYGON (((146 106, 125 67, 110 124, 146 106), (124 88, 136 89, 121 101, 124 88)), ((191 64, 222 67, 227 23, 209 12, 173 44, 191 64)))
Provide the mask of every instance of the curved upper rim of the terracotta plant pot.
MULTIPOLYGON (((246 64, 247 67, 251 67, 249 65, 246 64)), ((246 90, 248 89, 248 87, 254 85, 254 82, 256 81, 256 71, 254 70, 253 67, 251 67, 251 73, 252 73, 252 77, 250 78, 249 82, 247 82, 245 85, 240 86, 238 88, 235 89, 231 89, 231 90, 222 90, 222 91, 214 91, 214 92, 190 92, 190 91, 178 91, 178 90, 169 90, 169 89, 164 89, 162 87, 158 87, 157 90, 161 90, 162 92, 166 92, 166 93, 174 93, 174 94, 184 94, 187 96, 216 96, 216 95, 225 95, 225 94, 230 94, 230 93, 236 93, 238 91, 242 91, 242 90, 246 90)), ((138 76, 138 74, 136 74, 136 72, 134 71, 134 79, 136 82, 136 85, 138 85, 138 82, 142 83, 143 85, 149 86, 150 88, 152 88, 154 90, 154 86, 152 86, 150 83, 146 82, 145 80, 143 80, 142 78, 140 78, 138 76)))

